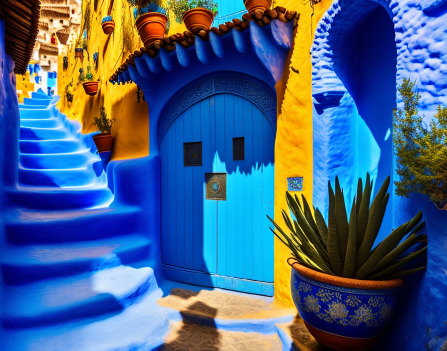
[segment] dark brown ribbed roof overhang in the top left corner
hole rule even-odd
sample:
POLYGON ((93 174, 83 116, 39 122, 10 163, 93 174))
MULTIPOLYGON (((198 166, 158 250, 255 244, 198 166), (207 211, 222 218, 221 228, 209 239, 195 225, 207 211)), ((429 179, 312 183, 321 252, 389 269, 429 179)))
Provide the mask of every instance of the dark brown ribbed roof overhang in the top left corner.
POLYGON ((5 25, 5 51, 15 62, 14 73, 25 74, 34 52, 40 17, 40 0, 1 0, 5 25))

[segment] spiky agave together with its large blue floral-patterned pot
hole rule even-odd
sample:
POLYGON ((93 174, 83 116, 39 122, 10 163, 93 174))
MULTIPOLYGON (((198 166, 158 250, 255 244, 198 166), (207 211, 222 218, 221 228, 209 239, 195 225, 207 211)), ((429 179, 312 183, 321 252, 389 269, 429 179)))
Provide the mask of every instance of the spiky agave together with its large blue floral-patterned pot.
POLYGON ((291 292, 301 318, 314 338, 335 350, 368 350, 390 321, 401 277, 423 270, 414 260, 427 252, 422 212, 391 232, 374 248, 388 203, 390 177, 370 205, 373 183, 359 179, 351 213, 345 207, 338 178, 329 182, 328 223, 314 215, 304 198, 286 192, 282 216, 287 235, 271 218, 272 231, 292 252, 291 292))

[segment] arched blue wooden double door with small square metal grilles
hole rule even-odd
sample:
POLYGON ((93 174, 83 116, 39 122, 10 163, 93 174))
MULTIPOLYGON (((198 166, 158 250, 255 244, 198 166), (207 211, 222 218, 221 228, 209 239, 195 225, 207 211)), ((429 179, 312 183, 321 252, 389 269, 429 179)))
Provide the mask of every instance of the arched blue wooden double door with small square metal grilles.
POLYGON ((273 215, 274 139, 259 108, 228 93, 194 104, 171 124, 160 143, 167 278, 272 295, 265 283, 273 282, 273 234, 265 215, 273 215), (236 159, 235 142, 243 154, 236 159), (211 183, 207 191, 216 175, 224 199, 210 199, 211 183))

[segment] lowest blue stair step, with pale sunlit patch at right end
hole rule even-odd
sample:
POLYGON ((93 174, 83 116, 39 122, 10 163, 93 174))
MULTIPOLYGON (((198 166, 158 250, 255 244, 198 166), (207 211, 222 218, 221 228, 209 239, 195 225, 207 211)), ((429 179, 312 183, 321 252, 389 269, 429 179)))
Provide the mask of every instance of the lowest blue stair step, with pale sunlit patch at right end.
POLYGON ((54 325, 120 312, 158 290, 152 268, 119 266, 93 274, 55 278, 4 289, 6 329, 54 325))

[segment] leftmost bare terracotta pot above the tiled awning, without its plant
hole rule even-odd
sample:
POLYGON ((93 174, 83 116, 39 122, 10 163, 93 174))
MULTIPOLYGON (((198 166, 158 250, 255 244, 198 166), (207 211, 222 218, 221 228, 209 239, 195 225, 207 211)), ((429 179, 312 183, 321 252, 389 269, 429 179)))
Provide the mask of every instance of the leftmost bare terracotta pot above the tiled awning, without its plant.
POLYGON ((163 39, 167 22, 168 17, 158 12, 144 13, 137 18, 135 24, 144 46, 149 46, 163 39))

